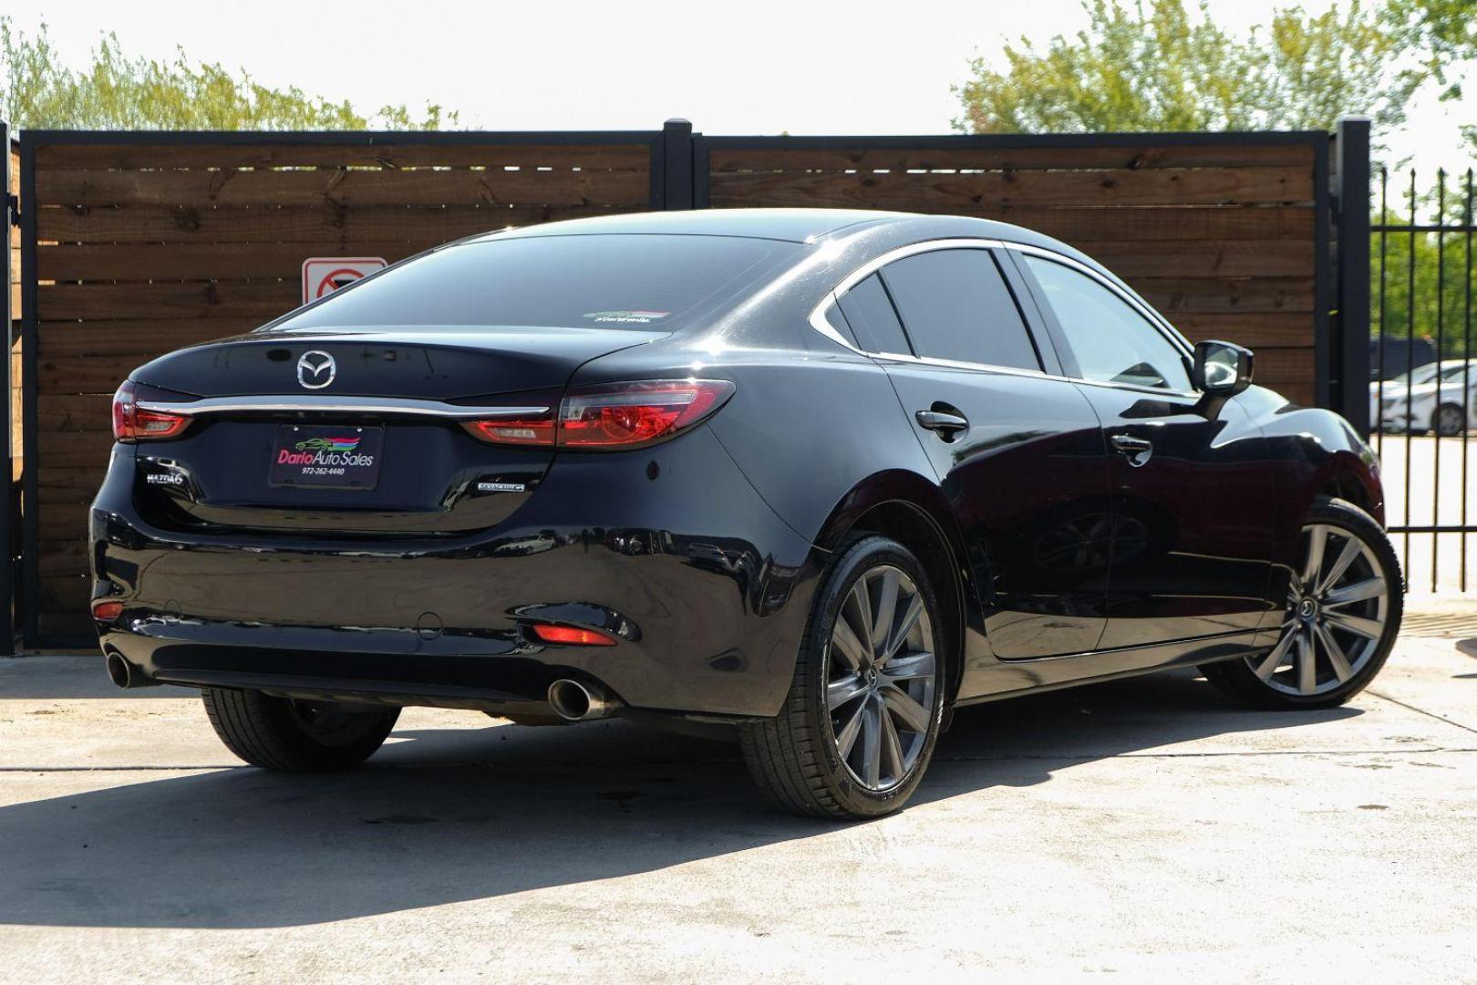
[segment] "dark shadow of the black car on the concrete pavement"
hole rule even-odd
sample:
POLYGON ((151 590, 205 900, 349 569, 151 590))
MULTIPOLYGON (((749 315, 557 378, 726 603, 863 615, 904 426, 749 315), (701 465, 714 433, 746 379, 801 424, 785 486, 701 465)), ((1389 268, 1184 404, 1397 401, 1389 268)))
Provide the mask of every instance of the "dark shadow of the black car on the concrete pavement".
MULTIPOLYGON (((1077 762, 1353 715, 1239 710, 1189 673, 963 709, 914 803, 991 787, 1009 796, 1077 762)), ((619 721, 394 738, 344 774, 216 769, 0 808, 0 923, 313 924, 840 827, 768 806, 728 743, 619 721)))

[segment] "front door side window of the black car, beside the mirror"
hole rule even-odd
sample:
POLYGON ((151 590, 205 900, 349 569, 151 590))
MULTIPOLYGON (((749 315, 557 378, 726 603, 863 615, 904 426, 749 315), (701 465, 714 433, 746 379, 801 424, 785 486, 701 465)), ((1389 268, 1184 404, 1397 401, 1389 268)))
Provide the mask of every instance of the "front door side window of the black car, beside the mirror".
POLYGON ((1086 380, 1190 388, 1180 350, 1127 301, 1086 273, 1021 255, 1041 282, 1086 380))

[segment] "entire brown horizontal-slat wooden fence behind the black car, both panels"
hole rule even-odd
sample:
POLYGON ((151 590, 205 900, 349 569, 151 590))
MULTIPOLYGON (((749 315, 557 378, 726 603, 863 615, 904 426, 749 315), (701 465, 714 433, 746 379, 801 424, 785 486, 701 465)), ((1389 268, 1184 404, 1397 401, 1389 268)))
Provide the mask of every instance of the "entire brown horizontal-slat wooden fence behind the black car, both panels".
MULTIPOLYGON (((857 207, 1003 219, 1123 275, 1258 380, 1328 400, 1329 134, 703 137, 25 134, 34 242, 27 641, 83 638, 86 504, 139 363, 297 306, 310 255, 397 260, 502 226, 645 208, 857 207)), ((16 241, 12 241, 16 242, 16 241)))

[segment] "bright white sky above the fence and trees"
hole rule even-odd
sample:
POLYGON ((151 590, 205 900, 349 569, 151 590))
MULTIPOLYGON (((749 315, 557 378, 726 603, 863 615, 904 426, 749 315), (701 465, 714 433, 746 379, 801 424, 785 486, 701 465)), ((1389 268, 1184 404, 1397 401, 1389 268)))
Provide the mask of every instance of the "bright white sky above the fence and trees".
MULTIPOLYGON (((1211 0, 1232 28, 1266 21, 1275 6, 1289 1, 1211 0)), ((183 46, 193 61, 360 111, 440 103, 461 111, 459 127, 484 130, 651 130, 685 117, 710 134, 947 133, 959 114, 950 86, 972 55, 1087 22, 1080 0, 6 0, 4 9, 27 32, 44 19, 77 66, 111 30, 128 55, 168 58, 183 46)), ((1458 120, 1461 109, 1418 100, 1391 134, 1393 158, 1467 167, 1458 123, 1477 114, 1467 106, 1458 120)))

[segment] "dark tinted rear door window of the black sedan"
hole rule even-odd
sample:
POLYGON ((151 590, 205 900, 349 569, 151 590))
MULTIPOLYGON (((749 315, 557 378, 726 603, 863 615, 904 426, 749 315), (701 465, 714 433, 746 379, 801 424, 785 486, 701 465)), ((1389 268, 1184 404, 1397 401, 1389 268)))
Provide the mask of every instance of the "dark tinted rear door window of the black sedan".
POLYGON ((919 356, 1040 369, 1021 310, 984 250, 935 250, 882 276, 919 356))

